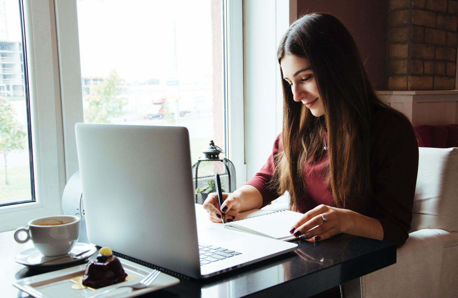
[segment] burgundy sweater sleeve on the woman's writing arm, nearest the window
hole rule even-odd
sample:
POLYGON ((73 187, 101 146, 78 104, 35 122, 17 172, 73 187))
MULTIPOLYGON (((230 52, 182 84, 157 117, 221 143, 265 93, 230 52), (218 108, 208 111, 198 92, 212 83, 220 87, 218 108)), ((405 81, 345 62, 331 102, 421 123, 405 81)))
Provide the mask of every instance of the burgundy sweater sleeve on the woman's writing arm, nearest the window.
MULTIPOLYGON (((272 153, 267 158, 267 162, 262 166, 256 175, 251 178, 250 181, 245 184, 254 186, 259 190, 262 195, 262 207, 267 206, 274 199, 278 198, 277 190, 270 185, 272 181, 273 173, 275 170, 275 163, 273 157, 281 150, 281 133, 275 139, 273 143, 272 153)), ((245 185, 244 184, 244 185, 245 185)))

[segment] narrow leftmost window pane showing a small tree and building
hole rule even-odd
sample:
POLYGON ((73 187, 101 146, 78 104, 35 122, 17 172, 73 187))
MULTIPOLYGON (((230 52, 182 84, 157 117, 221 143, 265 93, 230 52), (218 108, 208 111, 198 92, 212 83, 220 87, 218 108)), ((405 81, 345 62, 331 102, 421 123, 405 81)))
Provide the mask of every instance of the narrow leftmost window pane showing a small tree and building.
POLYGON ((6 205, 35 197, 18 1, 0 0, 0 16, 0 205, 6 205))

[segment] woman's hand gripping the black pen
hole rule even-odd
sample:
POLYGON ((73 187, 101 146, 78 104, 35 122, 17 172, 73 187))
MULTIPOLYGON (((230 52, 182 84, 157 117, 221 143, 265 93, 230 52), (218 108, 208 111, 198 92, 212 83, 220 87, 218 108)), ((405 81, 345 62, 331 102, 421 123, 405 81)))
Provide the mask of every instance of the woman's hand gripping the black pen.
POLYGON ((224 203, 219 209, 218 194, 209 193, 203 203, 203 208, 208 212, 208 218, 213 222, 221 222, 221 212, 226 215, 226 221, 233 221, 240 212, 240 198, 237 193, 223 193, 224 203))

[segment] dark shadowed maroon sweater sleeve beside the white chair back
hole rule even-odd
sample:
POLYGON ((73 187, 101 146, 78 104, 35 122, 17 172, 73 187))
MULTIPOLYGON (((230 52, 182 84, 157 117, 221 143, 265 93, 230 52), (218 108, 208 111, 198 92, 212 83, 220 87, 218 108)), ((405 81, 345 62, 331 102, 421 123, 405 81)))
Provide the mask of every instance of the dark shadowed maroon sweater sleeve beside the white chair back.
POLYGON ((418 172, 418 143, 410 122, 389 116, 377 127, 372 143, 373 217, 383 227, 383 240, 400 247, 409 237, 418 172))

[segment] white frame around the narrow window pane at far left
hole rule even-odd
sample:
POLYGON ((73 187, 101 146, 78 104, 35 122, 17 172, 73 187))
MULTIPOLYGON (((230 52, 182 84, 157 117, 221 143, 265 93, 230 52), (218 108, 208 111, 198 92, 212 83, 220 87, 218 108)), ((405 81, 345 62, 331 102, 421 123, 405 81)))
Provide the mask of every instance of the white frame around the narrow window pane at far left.
POLYGON ((35 201, 0 207, 0 231, 61 213, 65 186, 60 80, 54 3, 23 0, 35 201), (57 203, 57 204, 56 204, 57 203))

